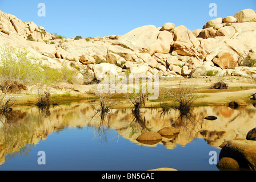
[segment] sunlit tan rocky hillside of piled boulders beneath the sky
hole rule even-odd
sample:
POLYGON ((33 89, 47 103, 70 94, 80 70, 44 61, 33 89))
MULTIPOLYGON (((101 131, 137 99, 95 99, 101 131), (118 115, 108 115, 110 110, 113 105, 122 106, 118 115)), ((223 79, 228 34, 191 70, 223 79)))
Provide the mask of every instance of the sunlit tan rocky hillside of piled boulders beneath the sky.
POLYGON ((59 39, 34 22, 0 11, 0 46, 23 46, 43 64, 65 60, 99 79, 102 73, 158 74, 159 77, 254 76, 256 13, 246 9, 216 18, 202 29, 147 25, 125 35, 59 39), (242 67, 243 66, 243 67, 242 67))

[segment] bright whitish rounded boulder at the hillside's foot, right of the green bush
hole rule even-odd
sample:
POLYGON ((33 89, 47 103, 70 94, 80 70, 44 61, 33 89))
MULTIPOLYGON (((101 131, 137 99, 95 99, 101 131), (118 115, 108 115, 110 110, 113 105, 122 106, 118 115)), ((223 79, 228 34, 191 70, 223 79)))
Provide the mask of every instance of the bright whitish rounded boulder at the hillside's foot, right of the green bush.
POLYGON ((117 75, 117 68, 110 63, 101 63, 93 66, 93 71, 95 73, 95 78, 97 80, 102 80, 103 77, 107 75, 117 75))

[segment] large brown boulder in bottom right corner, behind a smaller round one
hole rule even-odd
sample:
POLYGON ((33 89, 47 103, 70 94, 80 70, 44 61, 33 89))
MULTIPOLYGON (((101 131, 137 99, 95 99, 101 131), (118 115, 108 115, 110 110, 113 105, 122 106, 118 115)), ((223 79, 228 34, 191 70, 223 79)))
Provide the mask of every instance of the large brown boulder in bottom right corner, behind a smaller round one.
POLYGON ((256 164, 256 141, 230 140, 221 150, 219 160, 232 158, 241 168, 254 168, 256 164))

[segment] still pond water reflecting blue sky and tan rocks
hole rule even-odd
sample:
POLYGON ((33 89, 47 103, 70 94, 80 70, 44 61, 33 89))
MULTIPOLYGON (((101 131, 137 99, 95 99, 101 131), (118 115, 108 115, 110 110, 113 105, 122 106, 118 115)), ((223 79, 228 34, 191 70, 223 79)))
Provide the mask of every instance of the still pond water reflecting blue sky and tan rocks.
POLYGON ((179 171, 215 171, 210 151, 231 139, 245 138, 256 126, 256 108, 197 107, 186 116, 171 109, 113 109, 101 116, 87 102, 38 109, 15 108, 0 122, 0 170, 145 171, 169 167, 179 171), (204 119, 209 115, 215 121, 204 119), (136 138, 166 126, 179 134, 156 144, 136 138), (39 151, 46 164, 39 165, 39 151))

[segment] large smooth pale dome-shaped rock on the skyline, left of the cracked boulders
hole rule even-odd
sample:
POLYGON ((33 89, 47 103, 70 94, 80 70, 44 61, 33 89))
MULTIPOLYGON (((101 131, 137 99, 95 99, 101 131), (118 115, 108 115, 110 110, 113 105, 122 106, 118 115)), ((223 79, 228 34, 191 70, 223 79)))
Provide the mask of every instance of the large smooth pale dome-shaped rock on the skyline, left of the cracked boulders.
POLYGON ((158 35, 157 27, 153 25, 143 26, 121 36, 116 44, 128 47, 135 52, 148 52, 150 46, 157 42, 158 35))

